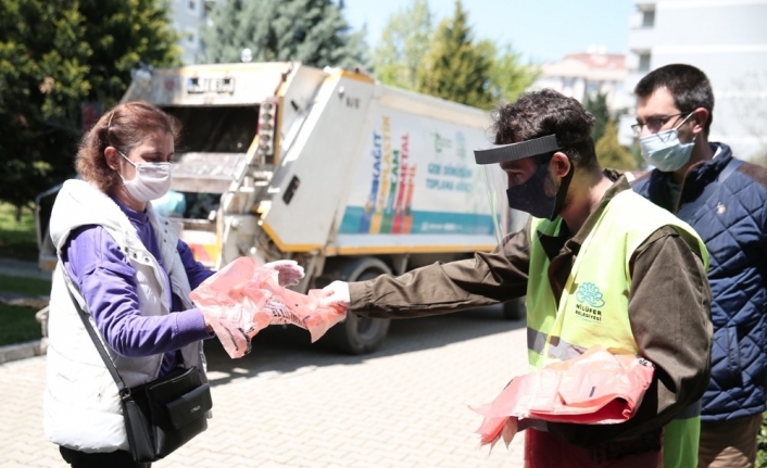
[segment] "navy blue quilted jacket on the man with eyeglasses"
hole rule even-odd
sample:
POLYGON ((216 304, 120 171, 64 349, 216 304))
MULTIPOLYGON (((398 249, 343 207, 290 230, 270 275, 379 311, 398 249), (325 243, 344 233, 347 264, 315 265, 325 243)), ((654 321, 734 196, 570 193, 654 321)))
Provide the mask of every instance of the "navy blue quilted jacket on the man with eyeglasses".
POLYGON ((718 154, 688 170, 677 206, 670 206, 668 173, 644 174, 633 189, 691 225, 708 248, 714 345, 701 417, 721 421, 765 410, 767 169, 743 163, 719 180, 732 152, 711 144, 718 154))

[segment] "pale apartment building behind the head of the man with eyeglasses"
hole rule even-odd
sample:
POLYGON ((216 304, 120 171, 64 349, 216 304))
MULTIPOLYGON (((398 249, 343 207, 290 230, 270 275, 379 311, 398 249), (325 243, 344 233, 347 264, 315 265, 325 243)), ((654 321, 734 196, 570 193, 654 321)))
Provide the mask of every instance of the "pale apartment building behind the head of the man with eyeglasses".
MULTIPOLYGON (((634 0, 629 33, 631 93, 649 72, 671 63, 701 68, 714 88, 709 139, 767 163, 767 0, 634 0)), ((633 115, 621 121, 628 144, 633 115)))

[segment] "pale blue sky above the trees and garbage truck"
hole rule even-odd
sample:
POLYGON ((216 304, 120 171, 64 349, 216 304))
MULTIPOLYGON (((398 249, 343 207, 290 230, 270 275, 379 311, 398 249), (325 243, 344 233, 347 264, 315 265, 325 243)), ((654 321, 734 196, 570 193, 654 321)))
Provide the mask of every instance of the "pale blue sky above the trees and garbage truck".
MULTIPOLYGON (((353 30, 367 25, 367 43, 378 43, 392 14, 413 0, 345 0, 344 15, 353 30)), ((455 0, 428 0, 436 21, 452 17, 455 0)), ((628 52, 632 0, 463 0, 477 39, 511 43, 525 62, 561 60, 567 53, 603 46, 628 52)))

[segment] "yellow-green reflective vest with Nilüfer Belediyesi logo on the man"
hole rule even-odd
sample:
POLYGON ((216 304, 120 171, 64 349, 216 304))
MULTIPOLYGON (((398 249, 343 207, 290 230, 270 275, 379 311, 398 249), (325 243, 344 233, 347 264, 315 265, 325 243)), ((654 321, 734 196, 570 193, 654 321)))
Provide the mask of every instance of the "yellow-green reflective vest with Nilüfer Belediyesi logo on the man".
MULTIPOLYGON (((538 231, 557 236, 562 218, 530 224, 530 270, 527 287, 528 361, 536 370, 582 354, 600 344, 615 354, 639 355, 629 321, 634 251, 664 226, 675 228, 695 249, 708 268, 708 251, 692 227, 631 190, 607 204, 575 258, 558 303, 549 282, 549 257, 537 241, 538 231)), ((697 465, 697 412, 667 425, 664 466, 697 465), (690 417, 692 416, 692 417, 690 417)))

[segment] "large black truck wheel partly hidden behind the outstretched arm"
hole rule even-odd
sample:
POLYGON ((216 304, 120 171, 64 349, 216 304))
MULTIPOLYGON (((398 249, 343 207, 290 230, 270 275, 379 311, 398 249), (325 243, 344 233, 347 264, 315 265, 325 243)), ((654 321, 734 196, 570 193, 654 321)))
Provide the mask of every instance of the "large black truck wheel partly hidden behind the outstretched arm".
MULTIPOLYGON (((389 267, 378 258, 363 258, 344 268, 347 281, 366 281, 389 274, 389 267)), ((389 319, 361 317, 347 313, 347 319, 336 325, 319 340, 332 350, 350 354, 368 354, 376 351, 387 333, 389 319)))

